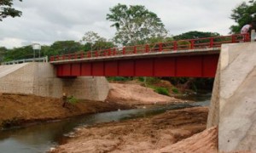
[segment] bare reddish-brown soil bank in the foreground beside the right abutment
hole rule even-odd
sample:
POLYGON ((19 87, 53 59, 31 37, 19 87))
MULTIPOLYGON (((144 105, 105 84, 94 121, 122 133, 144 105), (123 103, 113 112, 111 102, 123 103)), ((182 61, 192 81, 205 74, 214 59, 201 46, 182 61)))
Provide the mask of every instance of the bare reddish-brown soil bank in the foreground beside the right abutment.
POLYGON ((206 129, 207 111, 196 107, 83 127, 53 152, 215 152, 216 128, 200 133, 206 129), (189 138, 195 133, 200 134, 189 138))

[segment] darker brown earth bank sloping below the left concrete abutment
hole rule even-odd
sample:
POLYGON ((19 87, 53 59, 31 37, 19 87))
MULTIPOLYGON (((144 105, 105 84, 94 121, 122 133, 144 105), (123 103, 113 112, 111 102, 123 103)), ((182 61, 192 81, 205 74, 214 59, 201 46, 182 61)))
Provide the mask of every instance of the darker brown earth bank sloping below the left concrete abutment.
POLYGON ((0 94, 0 127, 13 127, 102 111, 131 107, 115 103, 79 100, 62 107, 62 99, 25 94, 0 94))

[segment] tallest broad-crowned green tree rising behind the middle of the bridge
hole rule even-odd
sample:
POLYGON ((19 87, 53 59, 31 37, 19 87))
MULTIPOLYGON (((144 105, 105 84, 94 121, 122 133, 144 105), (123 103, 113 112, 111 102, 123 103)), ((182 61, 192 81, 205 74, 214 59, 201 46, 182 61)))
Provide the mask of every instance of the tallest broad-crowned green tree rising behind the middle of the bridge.
POLYGON ((116 28, 114 41, 123 45, 148 42, 150 37, 166 37, 164 24, 153 12, 142 5, 118 4, 110 8, 107 20, 116 28))

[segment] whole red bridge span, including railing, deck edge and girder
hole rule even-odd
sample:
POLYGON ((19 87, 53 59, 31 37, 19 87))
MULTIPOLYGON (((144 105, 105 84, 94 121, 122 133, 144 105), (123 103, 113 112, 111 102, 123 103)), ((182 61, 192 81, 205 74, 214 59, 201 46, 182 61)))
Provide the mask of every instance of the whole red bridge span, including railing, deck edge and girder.
POLYGON ((220 47, 246 35, 206 37, 108 48, 50 57, 57 77, 215 77, 220 47))

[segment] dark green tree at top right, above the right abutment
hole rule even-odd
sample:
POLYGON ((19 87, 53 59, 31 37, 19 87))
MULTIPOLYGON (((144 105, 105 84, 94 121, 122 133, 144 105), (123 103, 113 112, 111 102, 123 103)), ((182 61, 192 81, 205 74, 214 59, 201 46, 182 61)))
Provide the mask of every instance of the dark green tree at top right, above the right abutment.
POLYGON ((242 26, 256 21, 256 2, 243 2, 232 10, 230 18, 235 20, 236 25, 230 26, 230 33, 239 33, 242 26))

